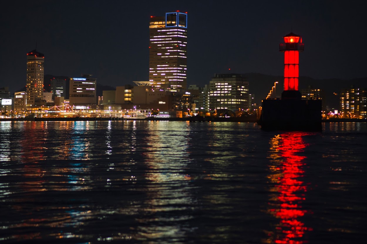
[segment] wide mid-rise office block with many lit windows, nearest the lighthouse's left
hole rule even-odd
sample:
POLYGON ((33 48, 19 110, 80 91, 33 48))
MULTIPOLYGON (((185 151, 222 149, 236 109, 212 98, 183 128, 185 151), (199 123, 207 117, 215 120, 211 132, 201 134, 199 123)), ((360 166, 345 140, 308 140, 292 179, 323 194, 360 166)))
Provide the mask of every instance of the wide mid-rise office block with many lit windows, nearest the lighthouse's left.
POLYGON ((215 74, 209 82, 209 109, 248 108, 248 81, 241 74, 215 74))

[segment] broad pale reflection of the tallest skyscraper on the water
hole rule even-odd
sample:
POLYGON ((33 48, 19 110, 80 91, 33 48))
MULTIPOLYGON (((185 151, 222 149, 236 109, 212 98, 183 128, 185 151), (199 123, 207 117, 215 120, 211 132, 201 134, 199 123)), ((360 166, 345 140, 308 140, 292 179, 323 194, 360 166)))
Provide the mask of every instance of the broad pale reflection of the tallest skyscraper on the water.
POLYGON ((190 175, 185 173, 188 157, 186 123, 151 122, 144 153, 148 182, 146 200, 136 229, 136 240, 154 243, 181 243, 191 231, 188 221, 196 200, 192 196, 190 175), (172 140, 175 138, 175 140, 172 140))

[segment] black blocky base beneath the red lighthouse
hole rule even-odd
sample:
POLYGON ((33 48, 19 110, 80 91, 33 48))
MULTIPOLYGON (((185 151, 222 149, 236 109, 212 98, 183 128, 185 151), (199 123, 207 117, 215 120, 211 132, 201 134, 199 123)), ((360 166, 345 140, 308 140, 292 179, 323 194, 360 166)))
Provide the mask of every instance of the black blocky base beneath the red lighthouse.
POLYGON ((321 131, 321 100, 263 100, 258 124, 263 130, 321 131))

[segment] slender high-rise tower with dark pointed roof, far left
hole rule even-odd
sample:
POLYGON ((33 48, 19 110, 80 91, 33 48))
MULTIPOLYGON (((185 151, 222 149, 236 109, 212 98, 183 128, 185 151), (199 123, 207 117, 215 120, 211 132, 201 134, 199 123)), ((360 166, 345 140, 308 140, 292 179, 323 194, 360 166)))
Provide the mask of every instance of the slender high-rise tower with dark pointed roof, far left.
POLYGON ((27 53, 27 110, 43 100, 44 54, 36 49, 27 53))

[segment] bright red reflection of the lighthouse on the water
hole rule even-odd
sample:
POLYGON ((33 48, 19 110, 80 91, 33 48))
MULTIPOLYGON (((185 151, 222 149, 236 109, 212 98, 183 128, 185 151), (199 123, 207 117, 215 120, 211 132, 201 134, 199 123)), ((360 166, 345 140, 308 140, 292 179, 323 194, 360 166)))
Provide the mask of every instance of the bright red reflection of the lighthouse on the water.
MULTIPOLYGON (((302 209, 302 202, 306 200, 307 186, 301 180, 304 176, 303 162, 305 156, 299 156, 307 144, 302 140, 303 132, 288 132, 277 136, 273 140, 273 150, 276 152, 272 158, 280 159, 277 166, 273 167, 274 174, 270 175, 275 183, 276 198, 273 199, 275 208, 270 212, 280 219, 276 226, 273 243, 302 244, 306 231, 312 230, 299 219, 307 211, 302 209)), ((270 166, 271 167, 271 166, 270 166)), ((269 203, 271 205, 271 203, 269 203)))

